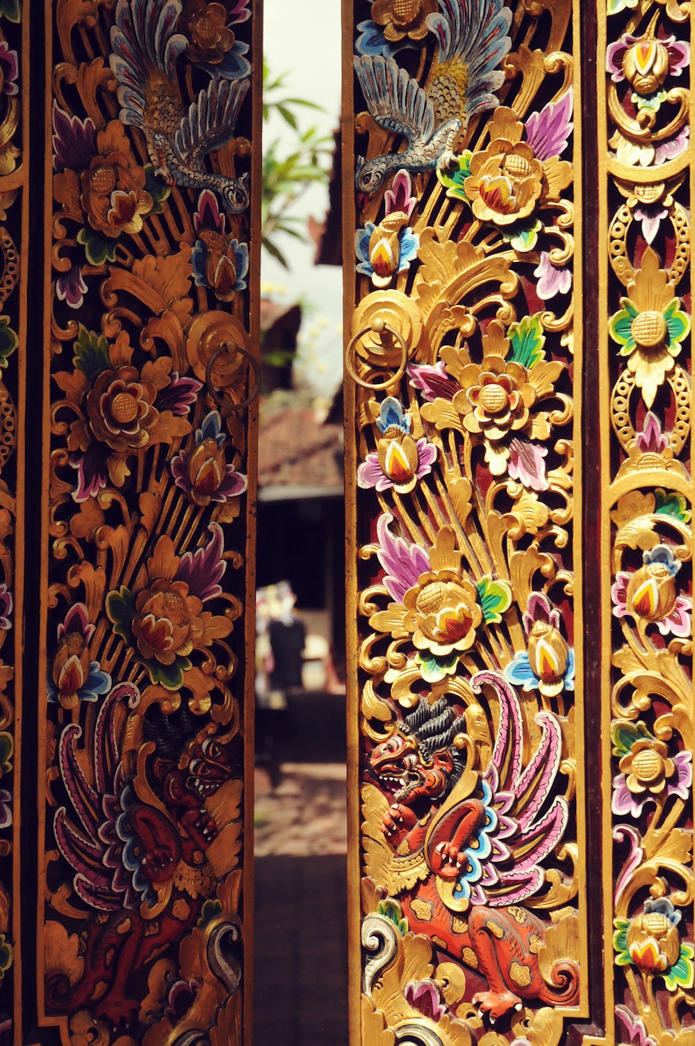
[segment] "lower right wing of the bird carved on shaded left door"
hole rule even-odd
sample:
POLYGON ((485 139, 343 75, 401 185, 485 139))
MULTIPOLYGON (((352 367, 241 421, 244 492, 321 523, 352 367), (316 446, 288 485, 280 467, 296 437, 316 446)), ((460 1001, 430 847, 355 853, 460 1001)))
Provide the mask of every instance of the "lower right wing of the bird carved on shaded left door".
POLYGON ((174 151, 181 162, 196 166, 204 156, 229 141, 248 89, 248 78, 209 82, 190 103, 174 135, 174 151))

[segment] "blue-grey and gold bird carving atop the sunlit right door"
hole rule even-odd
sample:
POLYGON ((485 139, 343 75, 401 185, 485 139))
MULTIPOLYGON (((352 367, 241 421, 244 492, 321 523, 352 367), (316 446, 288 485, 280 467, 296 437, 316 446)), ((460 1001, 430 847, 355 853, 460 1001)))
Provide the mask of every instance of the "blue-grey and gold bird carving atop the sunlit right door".
POLYGON ((363 192, 374 192, 394 170, 419 174, 449 166, 471 117, 499 104, 495 91, 505 82, 498 66, 512 46, 511 10, 503 0, 439 0, 439 14, 427 17, 436 52, 424 87, 394 59, 354 60, 371 115, 407 141, 402 153, 367 161, 359 158, 356 183, 363 192))

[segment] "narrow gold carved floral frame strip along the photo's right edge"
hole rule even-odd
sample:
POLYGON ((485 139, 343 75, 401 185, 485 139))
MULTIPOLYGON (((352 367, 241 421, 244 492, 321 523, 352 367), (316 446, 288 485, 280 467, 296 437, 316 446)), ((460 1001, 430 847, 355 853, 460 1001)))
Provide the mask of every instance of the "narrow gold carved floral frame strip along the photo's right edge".
POLYGON ((692 13, 599 4, 606 820, 615 1034, 695 1036, 692 13))

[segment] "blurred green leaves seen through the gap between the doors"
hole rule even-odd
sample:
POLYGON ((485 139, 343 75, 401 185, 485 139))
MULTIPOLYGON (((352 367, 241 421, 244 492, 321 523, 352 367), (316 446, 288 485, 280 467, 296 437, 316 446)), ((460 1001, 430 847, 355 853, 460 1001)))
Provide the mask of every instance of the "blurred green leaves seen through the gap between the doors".
POLYGON ((333 155, 333 138, 322 135, 316 127, 301 130, 297 109, 318 110, 320 106, 306 98, 288 97, 285 93, 287 74, 273 77, 268 66, 263 65, 263 118, 267 121, 273 113, 295 133, 294 146, 275 139, 264 151, 263 195, 261 201, 261 241, 271 257, 289 268, 278 237, 291 236, 306 243, 307 223, 291 213, 297 200, 311 185, 326 185, 329 181, 333 155))

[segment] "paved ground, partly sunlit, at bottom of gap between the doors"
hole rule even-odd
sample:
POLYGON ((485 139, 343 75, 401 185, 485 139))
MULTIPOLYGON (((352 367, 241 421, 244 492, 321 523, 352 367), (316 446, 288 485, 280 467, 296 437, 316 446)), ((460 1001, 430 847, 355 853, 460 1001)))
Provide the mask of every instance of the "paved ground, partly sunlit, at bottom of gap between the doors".
POLYGON ((254 850, 254 1046, 346 1046, 344 765, 257 770, 254 850))

